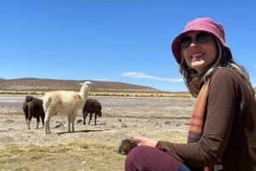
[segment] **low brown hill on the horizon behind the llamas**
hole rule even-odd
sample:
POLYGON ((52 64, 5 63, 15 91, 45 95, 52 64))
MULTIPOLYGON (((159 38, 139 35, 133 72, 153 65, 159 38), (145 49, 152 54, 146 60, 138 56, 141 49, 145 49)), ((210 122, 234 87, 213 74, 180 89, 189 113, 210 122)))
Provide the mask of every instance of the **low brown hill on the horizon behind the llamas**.
POLYGON ((32 90, 32 89, 80 89, 79 83, 90 81, 96 89, 120 89, 120 90, 158 90, 147 86, 134 85, 130 83, 102 82, 94 80, 57 80, 41 79, 34 77, 3 79, 0 78, 0 89, 6 90, 32 90))

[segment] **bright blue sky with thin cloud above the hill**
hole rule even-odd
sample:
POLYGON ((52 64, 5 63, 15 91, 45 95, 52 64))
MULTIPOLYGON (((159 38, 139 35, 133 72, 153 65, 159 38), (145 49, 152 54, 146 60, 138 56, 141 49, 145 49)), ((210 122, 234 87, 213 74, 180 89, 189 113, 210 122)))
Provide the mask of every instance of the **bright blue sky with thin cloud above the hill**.
POLYGON ((0 77, 187 91, 172 39, 190 20, 210 17, 256 87, 255 9, 253 0, 0 0, 0 77))

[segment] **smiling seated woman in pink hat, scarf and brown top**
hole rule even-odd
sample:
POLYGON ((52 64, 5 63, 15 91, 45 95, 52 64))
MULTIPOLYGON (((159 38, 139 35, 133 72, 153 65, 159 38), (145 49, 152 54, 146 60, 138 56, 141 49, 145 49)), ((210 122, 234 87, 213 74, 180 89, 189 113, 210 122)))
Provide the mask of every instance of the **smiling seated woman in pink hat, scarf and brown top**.
POLYGON ((190 21, 172 42, 184 82, 197 100, 188 144, 134 137, 125 170, 256 170, 256 102, 247 71, 236 64, 224 28, 190 21))

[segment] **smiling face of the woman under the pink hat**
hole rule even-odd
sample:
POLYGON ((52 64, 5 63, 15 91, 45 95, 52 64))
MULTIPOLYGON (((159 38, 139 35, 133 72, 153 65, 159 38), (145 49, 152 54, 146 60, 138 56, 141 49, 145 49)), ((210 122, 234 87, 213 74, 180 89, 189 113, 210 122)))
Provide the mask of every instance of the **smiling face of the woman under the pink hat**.
POLYGON ((189 31, 184 37, 192 37, 192 43, 182 48, 183 57, 190 68, 195 69, 198 73, 209 66, 217 58, 218 48, 214 37, 209 34, 207 41, 198 43, 196 35, 202 31, 189 31))

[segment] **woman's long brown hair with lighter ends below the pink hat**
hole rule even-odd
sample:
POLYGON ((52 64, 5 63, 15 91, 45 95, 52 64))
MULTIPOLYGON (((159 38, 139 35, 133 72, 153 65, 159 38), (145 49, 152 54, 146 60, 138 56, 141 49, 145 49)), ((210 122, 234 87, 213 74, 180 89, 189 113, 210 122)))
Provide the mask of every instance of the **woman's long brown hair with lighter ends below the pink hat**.
POLYGON ((194 97, 197 97, 207 77, 212 77, 212 74, 220 67, 229 67, 238 71, 238 73, 247 83, 248 87, 251 89, 253 95, 255 95, 253 86, 249 80, 249 75, 247 70, 243 66, 236 64, 236 62, 233 60, 233 57, 229 48, 224 47, 216 37, 214 37, 214 39, 215 39, 215 43, 218 46, 218 57, 215 60, 213 60, 210 66, 208 66, 201 73, 198 73, 195 69, 192 69, 187 65, 183 56, 183 48, 181 49, 182 60, 181 60, 178 71, 183 75, 184 83, 189 88, 189 92, 194 97))

